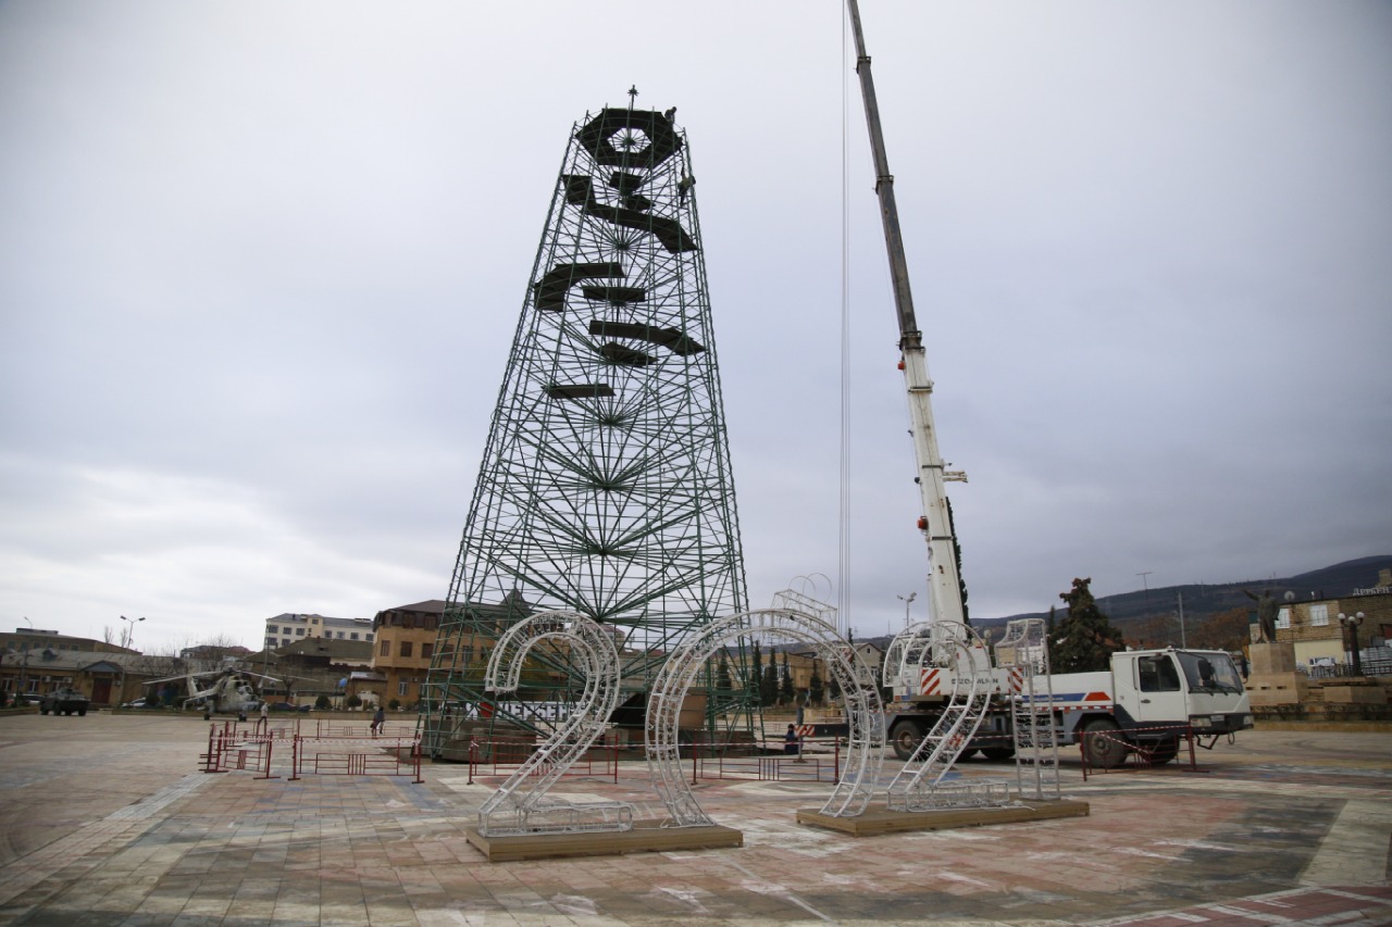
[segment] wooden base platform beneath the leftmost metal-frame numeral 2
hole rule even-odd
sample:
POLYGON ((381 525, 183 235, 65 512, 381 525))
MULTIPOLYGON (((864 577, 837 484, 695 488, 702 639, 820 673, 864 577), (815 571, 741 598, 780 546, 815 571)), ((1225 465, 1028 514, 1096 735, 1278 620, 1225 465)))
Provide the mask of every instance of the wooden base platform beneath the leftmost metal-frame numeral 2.
POLYGON ((617 856, 621 853, 660 853, 664 850, 718 849, 743 846, 745 834, 718 824, 710 827, 663 827, 658 820, 633 821, 631 831, 589 834, 523 834, 486 837, 476 827, 466 828, 469 842, 490 863, 516 859, 553 859, 557 856, 617 856))

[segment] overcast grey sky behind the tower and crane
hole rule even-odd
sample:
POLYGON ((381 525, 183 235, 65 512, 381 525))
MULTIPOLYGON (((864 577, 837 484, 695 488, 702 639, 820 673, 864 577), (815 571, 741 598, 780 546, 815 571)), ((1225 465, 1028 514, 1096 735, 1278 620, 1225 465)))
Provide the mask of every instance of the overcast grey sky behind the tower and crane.
MULTIPOLYGON (((972 614, 1392 553, 1392 4, 862 15, 972 614)), ((842 49, 837 0, 0 4, 0 626, 443 599, 572 122, 631 85, 689 134, 752 604, 927 617, 842 49)))

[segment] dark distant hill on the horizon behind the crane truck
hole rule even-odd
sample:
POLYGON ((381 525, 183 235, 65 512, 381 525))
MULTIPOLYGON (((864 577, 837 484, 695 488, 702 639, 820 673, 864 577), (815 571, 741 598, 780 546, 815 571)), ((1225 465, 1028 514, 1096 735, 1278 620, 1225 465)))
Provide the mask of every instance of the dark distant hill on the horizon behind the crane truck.
MULTIPOLYGON (((1286 576, 1283 579, 1240 579, 1231 583, 1189 583, 1182 586, 1158 586, 1155 589, 1137 589, 1136 592, 1118 593, 1115 596, 1101 596, 1097 605, 1107 612, 1122 632, 1129 626, 1157 617, 1173 615, 1179 611, 1179 597, 1185 600, 1185 625, 1197 628, 1214 615, 1233 608, 1254 608, 1254 603, 1242 590, 1250 589, 1261 593, 1270 589, 1276 600, 1283 600, 1288 592, 1296 594, 1299 600, 1334 599, 1347 596, 1354 589, 1368 589, 1378 585, 1378 571, 1392 569, 1392 555, 1379 554, 1377 557, 1360 557, 1334 566, 1311 569, 1306 573, 1286 576)), ((1059 592, 1068 587, 1068 582, 1059 592)), ((1059 600, 1055 621, 1068 614, 1059 600)), ((1018 618, 1048 618, 1047 611, 1006 615, 1004 618, 979 618, 972 615, 972 626, 977 631, 1004 629, 1005 625, 1018 618)), ((871 637, 873 643, 888 644, 889 637, 871 637)))

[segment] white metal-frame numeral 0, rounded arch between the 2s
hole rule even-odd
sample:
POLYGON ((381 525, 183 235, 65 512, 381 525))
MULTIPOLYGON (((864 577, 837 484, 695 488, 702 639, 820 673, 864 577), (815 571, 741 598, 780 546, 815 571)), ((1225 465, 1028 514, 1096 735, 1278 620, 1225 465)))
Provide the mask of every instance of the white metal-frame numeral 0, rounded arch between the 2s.
POLYGON ((793 639, 809 643, 827 661, 832 678, 841 686, 851 724, 846 766, 821 807, 831 817, 855 817, 864 811, 884 760, 884 706, 880 692, 862 686, 866 676, 873 679, 864 661, 837 635, 837 629, 820 618, 786 608, 750 611, 729 615, 700 629, 695 637, 678 647, 653 686, 647 707, 647 767, 663 803, 667 805, 668 827, 700 827, 713 821, 686 782, 678 756, 677 722, 682 702, 709 665, 710 658, 727 643, 741 637, 793 639))

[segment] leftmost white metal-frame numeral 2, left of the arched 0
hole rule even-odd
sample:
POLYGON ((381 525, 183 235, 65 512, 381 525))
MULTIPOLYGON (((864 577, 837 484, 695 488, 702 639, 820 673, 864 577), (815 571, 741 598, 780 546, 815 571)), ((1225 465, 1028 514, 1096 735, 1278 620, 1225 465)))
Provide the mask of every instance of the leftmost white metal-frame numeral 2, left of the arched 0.
POLYGON ((544 643, 569 651, 585 667, 585 690, 565 724, 479 809, 479 832, 493 837, 631 830, 633 807, 626 802, 544 800, 557 779, 604 732, 606 718, 618 704, 618 654, 603 628, 583 615, 562 611, 523 618, 498 639, 484 685, 493 692, 516 692, 528 654, 544 643))

